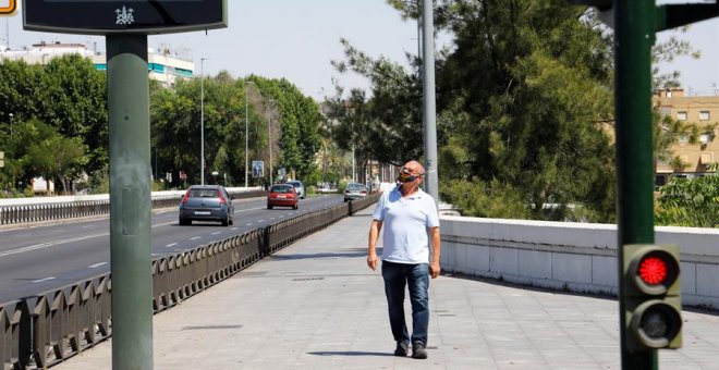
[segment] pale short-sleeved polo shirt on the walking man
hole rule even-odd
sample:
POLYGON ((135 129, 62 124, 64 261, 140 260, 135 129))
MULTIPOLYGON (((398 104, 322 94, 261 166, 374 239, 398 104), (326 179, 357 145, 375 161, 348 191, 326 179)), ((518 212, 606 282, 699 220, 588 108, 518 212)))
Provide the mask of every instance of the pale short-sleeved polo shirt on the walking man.
POLYGON ((397 263, 428 263, 427 227, 438 227, 439 217, 432 197, 417 189, 403 198, 400 187, 385 192, 373 219, 382 221, 382 260, 397 263))

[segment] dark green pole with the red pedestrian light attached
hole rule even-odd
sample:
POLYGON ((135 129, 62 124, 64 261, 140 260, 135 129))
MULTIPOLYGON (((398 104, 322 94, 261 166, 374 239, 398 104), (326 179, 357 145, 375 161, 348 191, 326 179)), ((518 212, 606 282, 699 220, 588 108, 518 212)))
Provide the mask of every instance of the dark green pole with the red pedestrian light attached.
POLYGON ((614 1, 619 311, 622 369, 657 369, 657 351, 626 348, 623 246, 654 243, 651 46, 655 0, 614 1))

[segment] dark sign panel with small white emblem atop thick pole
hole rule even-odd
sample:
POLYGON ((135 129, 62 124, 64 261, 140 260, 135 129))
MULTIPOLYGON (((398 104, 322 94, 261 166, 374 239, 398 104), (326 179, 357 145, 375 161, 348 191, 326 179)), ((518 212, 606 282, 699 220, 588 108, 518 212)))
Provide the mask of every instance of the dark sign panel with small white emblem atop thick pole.
POLYGON ((23 0, 23 25, 29 30, 88 35, 224 28, 227 0, 23 0))

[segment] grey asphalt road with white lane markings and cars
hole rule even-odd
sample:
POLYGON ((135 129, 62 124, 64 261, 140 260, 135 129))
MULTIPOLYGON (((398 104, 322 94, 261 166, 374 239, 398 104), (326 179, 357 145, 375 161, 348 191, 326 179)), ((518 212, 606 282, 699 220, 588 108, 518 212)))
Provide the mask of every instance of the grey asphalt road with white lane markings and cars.
MULTIPOLYGON (((178 225, 178 210, 153 213, 153 256, 184 251, 283 219, 342 202, 338 195, 308 197, 300 209, 268 210, 265 198, 235 200, 234 225, 178 225)), ((0 231, 0 304, 110 271, 108 217, 0 231)))

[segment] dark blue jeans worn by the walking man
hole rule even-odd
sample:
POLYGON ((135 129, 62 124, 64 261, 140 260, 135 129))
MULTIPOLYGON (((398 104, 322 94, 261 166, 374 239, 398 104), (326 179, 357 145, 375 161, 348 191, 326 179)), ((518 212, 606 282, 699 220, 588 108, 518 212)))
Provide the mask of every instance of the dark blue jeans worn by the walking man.
POLYGON ((412 343, 427 345, 429 326, 429 266, 427 263, 404 264, 382 261, 385 294, 389 307, 390 326, 397 342, 410 342, 404 322, 404 286, 410 288, 412 304, 412 343))

